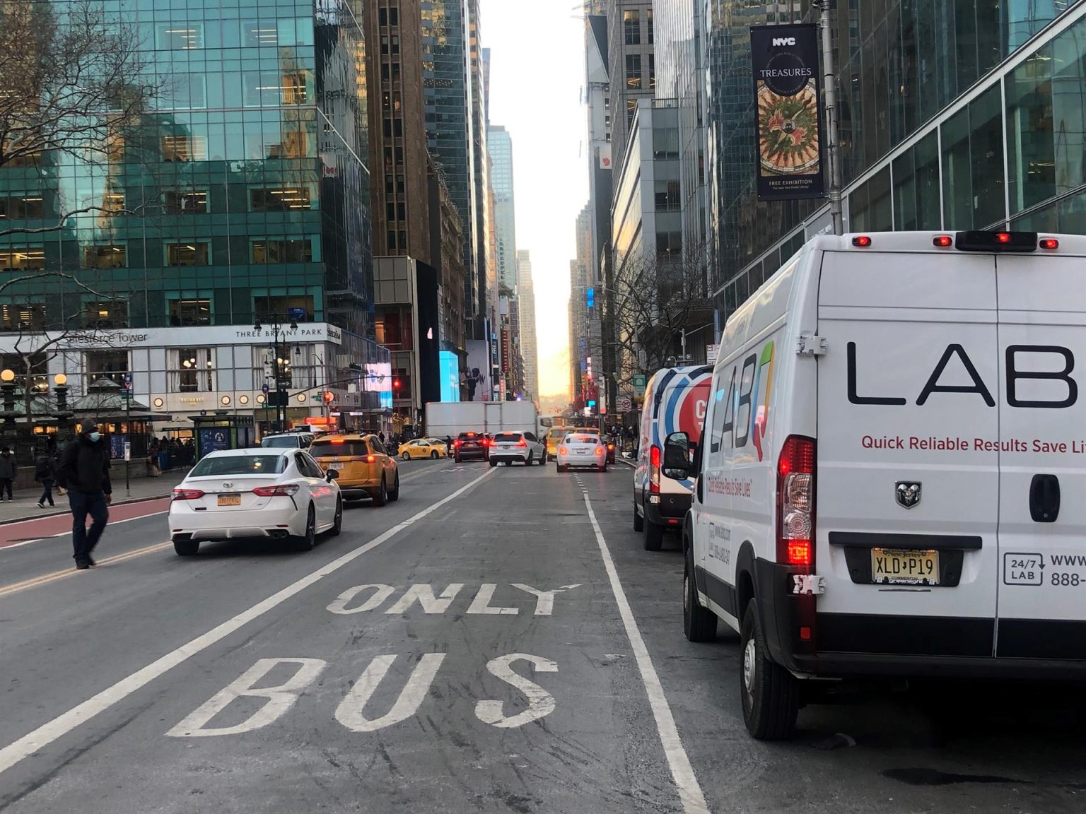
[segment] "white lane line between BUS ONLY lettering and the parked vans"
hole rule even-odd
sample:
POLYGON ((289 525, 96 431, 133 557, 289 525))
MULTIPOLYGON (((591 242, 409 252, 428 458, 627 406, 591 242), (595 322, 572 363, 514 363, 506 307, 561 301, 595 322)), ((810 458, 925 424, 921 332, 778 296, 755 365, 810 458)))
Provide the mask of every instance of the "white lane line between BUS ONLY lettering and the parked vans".
POLYGON ((610 581, 611 593, 615 594, 615 601, 618 603, 619 614, 622 616, 622 625, 626 627, 627 638, 630 639, 630 647, 633 648, 633 656, 637 660, 637 670, 641 672, 641 681, 645 685, 645 692, 648 694, 648 705, 653 710, 653 717, 656 718, 656 730, 660 734, 660 743, 664 746, 664 754, 668 759, 668 766, 671 768, 671 777, 679 789, 679 799, 682 801, 682 809, 685 814, 709 814, 709 806, 705 802, 705 794, 694 775, 694 767, 690 763, 686 750, 683 748, 682 739, 679 737, 679 729, 675 727, 675 720, 671 714, 671 707, 668 704, 667 696, 664 695, 664 686, 660 677, 653 666, 652 657, 645 640, 641 637, 637 622, 630 610, 630 602, 627 601, 622 583, 619 582, 618 571, 615 570, 615 561, 611 559, 610 550, 604 540, 604 534, 599 531, 599 523, 596 521, 596 513, 592 510, 592 501, 589 496, 584 496, 584 506, 589 510, 589 520, 592 521, 592 530, 596 533, 596 542, 599 544, 599 556, 603 557, 604 568, 607 571, 607 578, 610 581))

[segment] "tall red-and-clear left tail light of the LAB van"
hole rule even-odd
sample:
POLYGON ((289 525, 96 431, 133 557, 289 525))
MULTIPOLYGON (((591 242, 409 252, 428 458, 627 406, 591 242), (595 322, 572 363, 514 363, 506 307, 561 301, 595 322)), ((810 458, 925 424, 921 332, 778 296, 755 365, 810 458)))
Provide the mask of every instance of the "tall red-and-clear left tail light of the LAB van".
POLYGON ((776 465, 776 561, 815 571, 815 442, 792 435, 776 465))

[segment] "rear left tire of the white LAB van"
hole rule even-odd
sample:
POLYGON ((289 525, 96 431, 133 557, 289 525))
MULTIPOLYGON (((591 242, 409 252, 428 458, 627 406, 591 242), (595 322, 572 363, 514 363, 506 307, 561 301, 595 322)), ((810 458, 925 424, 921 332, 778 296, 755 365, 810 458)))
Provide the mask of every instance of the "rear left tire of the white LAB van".
POLYGON ((770 661, 756 599, 747 602, 740 644, 740 698, 747 732, 757 740, 792 737, 799 686, 787 670, 770 661))

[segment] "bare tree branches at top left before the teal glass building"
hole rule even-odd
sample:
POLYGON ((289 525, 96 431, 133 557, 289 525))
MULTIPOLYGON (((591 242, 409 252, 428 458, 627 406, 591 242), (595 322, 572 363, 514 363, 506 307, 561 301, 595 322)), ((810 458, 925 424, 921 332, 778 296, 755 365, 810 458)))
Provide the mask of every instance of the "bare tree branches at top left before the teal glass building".
MULTIPOLYGON (((0 167, 40 167, 48 156, 108 163, 151 107, 160 88, 137 28, 110 3, 0 2, 0 167)), ((116 5, 116 4, 113 4, 116 5)), ((123 203, 77 205, 54 222, 0 229, 0 237, 58 231, 74 215, 138 214, 123 203)))

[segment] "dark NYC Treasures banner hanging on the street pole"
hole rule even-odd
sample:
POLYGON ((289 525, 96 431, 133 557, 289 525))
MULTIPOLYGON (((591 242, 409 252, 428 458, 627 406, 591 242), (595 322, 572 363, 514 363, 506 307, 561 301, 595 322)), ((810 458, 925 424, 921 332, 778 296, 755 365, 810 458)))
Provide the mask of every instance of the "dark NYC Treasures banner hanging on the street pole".
POLYGON ((758 200, 823 198, 818 26, 753 26, 750 64, 758 101, 758 200))

